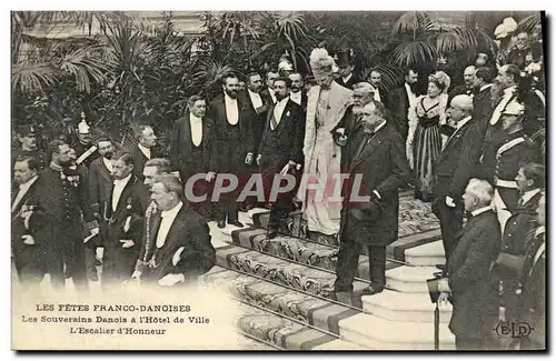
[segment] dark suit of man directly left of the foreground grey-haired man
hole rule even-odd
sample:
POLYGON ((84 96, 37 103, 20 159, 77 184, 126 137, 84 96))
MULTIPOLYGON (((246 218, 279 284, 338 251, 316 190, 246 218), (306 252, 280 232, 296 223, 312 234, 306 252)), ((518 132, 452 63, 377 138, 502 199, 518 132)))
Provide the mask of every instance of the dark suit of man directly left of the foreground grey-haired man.
POLYGON ((139 257, 142 241, 143 209, 141 207, 140 181, 131 176, 112 210, 113 183, 103 203, 105 221, 102 233, 106 238, 102 262, 102 287, 129 280, 139 257), (128 223, 128 224, 126 224, 128 223), (129 229, 125 229, 126 225, 129 229), (120 240, 132 240, 135 244, 122 248, 120 240))

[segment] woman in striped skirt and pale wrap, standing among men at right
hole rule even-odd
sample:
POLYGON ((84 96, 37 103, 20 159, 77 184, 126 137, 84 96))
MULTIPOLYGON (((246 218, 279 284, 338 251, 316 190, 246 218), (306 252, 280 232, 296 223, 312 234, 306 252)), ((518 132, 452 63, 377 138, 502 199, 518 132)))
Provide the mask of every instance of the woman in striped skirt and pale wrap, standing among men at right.
POLYGON ((441 151, 440 126, 446 124, 446 108, 450 78, 437 71, 428 78, 426 96, 409 109, 409 133, 406 151, 415 174, 415 198, 429 202, 434 198, 433 167, 441 151))

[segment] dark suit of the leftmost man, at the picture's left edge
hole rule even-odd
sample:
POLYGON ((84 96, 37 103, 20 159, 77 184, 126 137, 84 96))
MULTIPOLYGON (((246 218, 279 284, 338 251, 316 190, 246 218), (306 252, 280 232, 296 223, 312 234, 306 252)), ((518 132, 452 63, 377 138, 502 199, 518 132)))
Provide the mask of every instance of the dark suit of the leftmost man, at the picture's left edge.
POLYGON ((38 285, 46 273, 40 244, 24 244, 21 239, 24 234, 36 237, 33 229, 26 228, 20 212, 22 208, 23 210, 28 208, 28 203, 32 204, 32 198, 37 193, 37 181, 38 179, 29 187, 17 204, 13 204, 13 202, 19 189, 14 190, 11 198, 11 204, 16 205, 11 211, 11 250, 16 272, 22 285, 38 285))

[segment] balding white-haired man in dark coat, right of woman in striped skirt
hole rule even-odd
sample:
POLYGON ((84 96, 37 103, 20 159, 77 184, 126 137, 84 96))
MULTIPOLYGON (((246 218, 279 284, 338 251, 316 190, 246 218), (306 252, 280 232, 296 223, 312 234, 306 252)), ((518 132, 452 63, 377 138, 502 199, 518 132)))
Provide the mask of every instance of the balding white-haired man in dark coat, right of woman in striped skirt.
POLYGON ((440 221, 446 261, 456 247, 456 235, 463 227, 461 195, 476 171, 480 156, 483 133, 479 122, 471 119, 471 113, 470 97, 463 94, 454 97, 447 114, 456 130, 445 143, 435 166, 437 180, 433 212, 440 221))

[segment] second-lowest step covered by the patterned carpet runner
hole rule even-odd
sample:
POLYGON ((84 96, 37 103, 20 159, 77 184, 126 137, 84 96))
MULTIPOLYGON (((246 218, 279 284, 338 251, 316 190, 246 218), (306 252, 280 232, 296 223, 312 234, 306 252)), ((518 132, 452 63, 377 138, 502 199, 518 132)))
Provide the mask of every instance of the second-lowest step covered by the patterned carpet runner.
POLYGON ((358 310, 220 267, 215 267, 205 274, 203 281, 224 288, 241 302, 284 314, 336 335, 339 334, 340 320, 360 313, 358 310))

